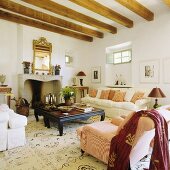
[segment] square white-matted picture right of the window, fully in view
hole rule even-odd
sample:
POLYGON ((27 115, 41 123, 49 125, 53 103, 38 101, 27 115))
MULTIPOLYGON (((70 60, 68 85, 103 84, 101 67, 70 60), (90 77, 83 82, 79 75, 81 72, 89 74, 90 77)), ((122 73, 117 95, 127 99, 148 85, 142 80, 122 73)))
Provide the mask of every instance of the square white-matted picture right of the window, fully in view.
POLYGON ((159 82, 159 60, 141 61, 140 82, 141 83, 159 82))

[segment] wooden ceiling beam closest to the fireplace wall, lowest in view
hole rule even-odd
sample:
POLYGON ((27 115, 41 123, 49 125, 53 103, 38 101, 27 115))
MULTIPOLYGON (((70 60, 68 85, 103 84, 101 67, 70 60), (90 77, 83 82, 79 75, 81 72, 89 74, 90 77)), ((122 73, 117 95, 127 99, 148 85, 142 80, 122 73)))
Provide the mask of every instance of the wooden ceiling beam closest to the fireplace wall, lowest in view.
POLYGON ((2 10, 0 10, 0 19, 15 22, 15 23, 18 23, 18 24, 28 25, 28 26, 31 26, 31 27, 36 27, 36 28, 39 28, 39 29, 51 31, 51 32, 54 32, 54 33, 62 34, 62 35, 65 35, 65 36, 77 38, 77 39, 84 40, 84 41, 89 41, 89 42, 93 41, 93 38, 90 37, 90 36, 83 35, 83 34, 80 34, 80 33, 76 33, 76 32, 66 30, 66 29, 63 29, 63 28, 60 28, 60 27, 56 27, 56 26, 53 26, 53 25, 49 25, 49 24, 46 24, 46 23, 43 23, 43 22, 40 22, 40 21, 36 21, 36 20, 33 20, 33 19, 25 18, 25 17, 19 16, 19 15, 15 15, 15 14, 12 14, 12 13, 9 13, 9 12, 2 11, 2 10))

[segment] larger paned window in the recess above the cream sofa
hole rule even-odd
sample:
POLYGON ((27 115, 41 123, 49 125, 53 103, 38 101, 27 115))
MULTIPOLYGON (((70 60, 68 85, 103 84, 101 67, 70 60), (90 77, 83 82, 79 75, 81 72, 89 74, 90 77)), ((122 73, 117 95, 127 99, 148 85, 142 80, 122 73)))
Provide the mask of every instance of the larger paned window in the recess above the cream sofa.
POLYGON ((113 53, 113 64, 128 63, 132 60, 132 52, 130 49, 113 53))

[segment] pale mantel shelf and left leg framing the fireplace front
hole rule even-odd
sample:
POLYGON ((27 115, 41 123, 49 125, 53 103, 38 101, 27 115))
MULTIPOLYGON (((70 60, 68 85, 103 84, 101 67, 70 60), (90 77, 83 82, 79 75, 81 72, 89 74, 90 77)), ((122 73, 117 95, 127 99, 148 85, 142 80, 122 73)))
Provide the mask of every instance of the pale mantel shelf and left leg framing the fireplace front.
POLYGON ((19 97, 24 97, 24 87, 27 80, 37 80, 42 82, 60 81, 62 84, 62 76, 59 75, 37 75, 37 74, 19 74, 18 75, 18 87, 19 97))

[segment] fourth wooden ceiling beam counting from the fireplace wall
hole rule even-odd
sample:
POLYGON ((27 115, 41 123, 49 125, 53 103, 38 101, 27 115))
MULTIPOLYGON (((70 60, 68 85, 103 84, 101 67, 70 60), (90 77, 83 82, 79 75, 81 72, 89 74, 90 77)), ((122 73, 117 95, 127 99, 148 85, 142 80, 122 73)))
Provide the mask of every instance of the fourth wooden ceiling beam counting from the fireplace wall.
POLYGON ((133 27, 133 21, 111 10, 110 8, 98 3, 95 0, 69 0, 77 5, 87 8, 99 15, 109 18, 125 27, 133 27))

